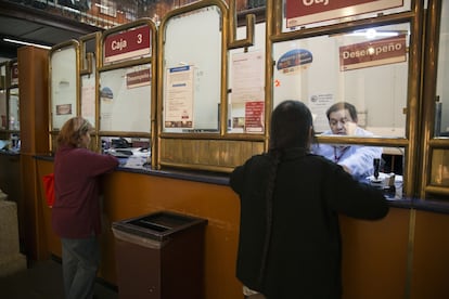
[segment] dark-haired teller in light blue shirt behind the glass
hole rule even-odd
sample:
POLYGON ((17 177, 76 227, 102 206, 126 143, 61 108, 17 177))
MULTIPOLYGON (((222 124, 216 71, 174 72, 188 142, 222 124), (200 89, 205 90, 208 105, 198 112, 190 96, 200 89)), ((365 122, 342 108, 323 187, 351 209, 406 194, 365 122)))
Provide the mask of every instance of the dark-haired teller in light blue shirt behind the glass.
MULTIPOLYGON (((326 112, 330 130, 322 135, 373 136, 358 126, 357 109, 352 104, 338 102, 326 112)), ((315 144, 312 152, 343 167, 357 180, 374 174, 374 159, 382 158, 382 147, 347 144, 315 144)), ((382 159, 381 159, 382 160, 382 159)))

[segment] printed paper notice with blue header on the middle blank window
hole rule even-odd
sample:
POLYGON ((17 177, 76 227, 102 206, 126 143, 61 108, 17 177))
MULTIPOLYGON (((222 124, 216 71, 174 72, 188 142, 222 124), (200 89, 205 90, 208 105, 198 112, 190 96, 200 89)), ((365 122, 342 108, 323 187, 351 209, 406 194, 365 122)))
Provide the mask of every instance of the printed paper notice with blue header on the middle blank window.
POLYGON ((193 67, 167 69, 165 128, 193 128, 193 67))

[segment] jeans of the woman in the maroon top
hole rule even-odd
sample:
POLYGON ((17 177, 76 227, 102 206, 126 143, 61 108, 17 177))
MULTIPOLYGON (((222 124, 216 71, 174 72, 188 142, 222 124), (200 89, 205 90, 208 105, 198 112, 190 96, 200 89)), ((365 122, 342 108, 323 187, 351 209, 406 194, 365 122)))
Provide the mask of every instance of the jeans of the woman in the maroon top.
POLYGON ((61 238, 61 243, 66 299, 91 299, 100 265, 97 237, 61 238))

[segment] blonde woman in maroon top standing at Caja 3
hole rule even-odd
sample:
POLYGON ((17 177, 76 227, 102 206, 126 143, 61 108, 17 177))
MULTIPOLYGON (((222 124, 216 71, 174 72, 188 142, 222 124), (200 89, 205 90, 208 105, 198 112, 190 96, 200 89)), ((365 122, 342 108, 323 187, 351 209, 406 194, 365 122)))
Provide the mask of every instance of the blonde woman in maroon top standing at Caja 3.
POLYGON ((116 157, 88 150, 91 130, 89 121, 73 117, 56 140, 52 227, 61 237, 66 299, 93 297, 100 264, 99 179, 118 166, 116 157))

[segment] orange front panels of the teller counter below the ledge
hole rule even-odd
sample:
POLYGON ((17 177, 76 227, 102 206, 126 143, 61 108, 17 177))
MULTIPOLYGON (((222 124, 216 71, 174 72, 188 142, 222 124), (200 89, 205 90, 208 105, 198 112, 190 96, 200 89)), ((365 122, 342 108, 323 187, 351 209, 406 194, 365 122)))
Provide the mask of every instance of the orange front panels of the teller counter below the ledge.
MULTIPOLYGON (((53 162, 37 159, 37 169, 38 178, 42 178, 52 172, 53 162)), ((169 210, 208 220, 204 298, 243 298, 242 285, 235 278, 240 203, 226 180, 214 183, 167 172, 118 170, 107 174, 103 183, 101 278, 117 284, 112 222, 169 210)), ((39 194, 37 200, 42 210, 38 214, 43 223, 39 231, 47 240, 47 248, 40 249, 47 250, 49 257, 61 257, 60 242, 51 232, 51 209, 43 200, 42 184, 39 194)), ((449 272, 449 235, 438 233, 449 230, 448 214, 393 205, 381 221, 346 217, 341 220, 344 299, 449 298, 449 285, 444 280, 449 272), (422 297, 431 290, 432 297, 422 297)))

